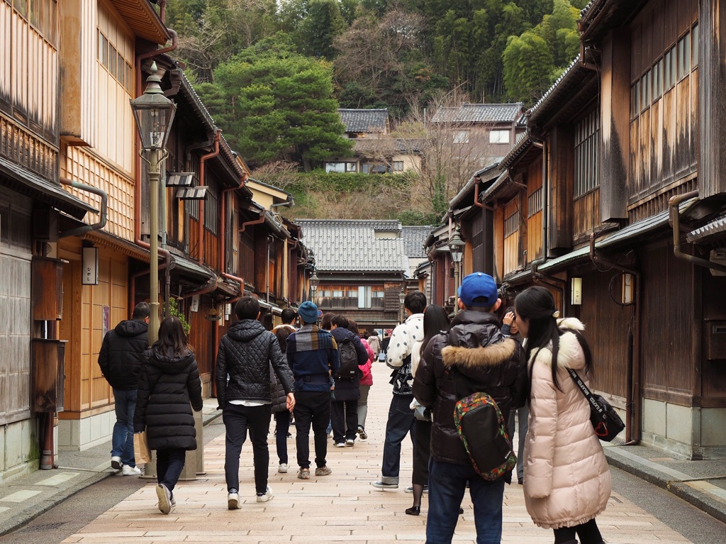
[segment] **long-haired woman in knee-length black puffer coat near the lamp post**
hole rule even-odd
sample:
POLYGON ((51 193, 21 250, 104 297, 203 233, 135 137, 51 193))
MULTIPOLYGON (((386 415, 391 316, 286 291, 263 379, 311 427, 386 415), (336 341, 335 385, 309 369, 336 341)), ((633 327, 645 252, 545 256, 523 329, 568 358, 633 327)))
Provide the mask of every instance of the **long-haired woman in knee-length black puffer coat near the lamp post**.
POLYGON ((187 450, 197 449, 192 408, 202 410, 202 382, 197 361, 187 347, 178 317, 161 322, 159 339, 142 357, 136 393, 134 431, 147 431, 149 447, 156 450, 159 510, 175 506, 174 486, 187 450))

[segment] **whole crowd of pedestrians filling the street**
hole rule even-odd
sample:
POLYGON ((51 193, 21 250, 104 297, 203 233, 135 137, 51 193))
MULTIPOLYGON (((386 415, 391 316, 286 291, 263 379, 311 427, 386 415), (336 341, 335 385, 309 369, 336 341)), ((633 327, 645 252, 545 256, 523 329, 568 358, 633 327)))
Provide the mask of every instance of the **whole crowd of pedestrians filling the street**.
MULTIPOLYGON (((256 500, 273 498, 267 444, 273 415, 277 471, 288 471, 294 426, 297 478, 310 478, 312 462, 315 476, 332 474, 329 438, 341 448, 368 438, 368 393, 378 361, 391 369, 392 394, 380 437, 380 478, 371 483, 379 490, 399 488, 401 444, 410 436, 413 471, 405 491, 413 503, 405 513, 426 512, 426 544, 452 542, 467 490, 477 544, 500 543, 504 490, 513 471, 531 519, 552 529, 555 544, 578 544, 576 538, 603 544, 595 518, 607 505, 611 476, 587 400, 568 379, 568 370, 585 382, 592 375, 584 325, 558 319, 555 300, 542 287, 526 289, 502 312, 497 285, 482 272, 466 276, 457 295, 457 312, 447 314, 427 306, 423 293, 408 293, 406 319, 384 338, 361 333, 343 314, 323 315, 311 301, 297 311, 285 309, 273 328, 255 297, 240 299, 237 320, 221 338, 214 376, 226 431, 228 508, 241 505, 240 455, 248 433, 256 500), (512 461, 494 476, 473 462, 453 417, 462 399, 481 394, 497 407, 502 436, 509 440, 518 430, 516 466, 512 461)), ((117 399, 111 464, 123 475, 139 474, 129 444, 134 432, 145 431, 157 452, 158 508, 169 513, 185 452, 197 447, 192 410, 202 408, 201 383, 176 317, 163 320, 158 341, 145 349, 149 310, 139 304, 131 320, 107 333, 99 365, 117 399)))

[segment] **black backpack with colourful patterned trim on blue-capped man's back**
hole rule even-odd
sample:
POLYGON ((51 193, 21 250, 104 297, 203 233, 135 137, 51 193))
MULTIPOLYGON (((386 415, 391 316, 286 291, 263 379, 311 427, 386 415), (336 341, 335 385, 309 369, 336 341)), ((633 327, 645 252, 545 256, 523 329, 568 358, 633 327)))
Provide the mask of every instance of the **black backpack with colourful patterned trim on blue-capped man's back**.
POLYGON ((488 394, 470 394, 457 402, 454 426, 471 466, 487 482, 494 482, 517 466, 502 412, 488 394))

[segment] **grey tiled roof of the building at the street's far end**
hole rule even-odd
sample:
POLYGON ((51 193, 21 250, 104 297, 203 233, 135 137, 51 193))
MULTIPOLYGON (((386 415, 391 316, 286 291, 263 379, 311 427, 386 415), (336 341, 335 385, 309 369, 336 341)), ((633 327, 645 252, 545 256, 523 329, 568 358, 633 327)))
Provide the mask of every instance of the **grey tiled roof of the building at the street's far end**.
POLYGON ((408 269, 397 221, 295 219, 319 272, 395 272, 408 269), (376 238, 391 232, 391 238, 376 238))

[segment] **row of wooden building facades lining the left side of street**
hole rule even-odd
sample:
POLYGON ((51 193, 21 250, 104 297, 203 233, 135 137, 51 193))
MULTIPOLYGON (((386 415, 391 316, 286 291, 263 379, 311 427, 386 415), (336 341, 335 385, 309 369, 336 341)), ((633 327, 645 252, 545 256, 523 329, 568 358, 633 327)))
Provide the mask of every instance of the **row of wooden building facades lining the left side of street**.
POLYGON ((244 161, 166 55, 176 34, 150 1, 68 0, 60 9, 3 0, 0 44, 0 309, 12 316, 0 325, 0 353, 11 354, 0 357, 4 481, 110 439, 113 390, 98 352, 105 333, 149 300, 150 235, 160 243, 161 306, 174 299, 191 325, 208 395, 234 301, 266 293, 278 313, 296 306, 308 255, 299 227, 254 202, 244 161), (129 104, 152 61, 177 105, 162 182, 188 173, 208 187, 205 200, 160 191, 158 233, 149 232, 147 166, 129 104), (272 253, 262 249, 269 238, 272 253))

